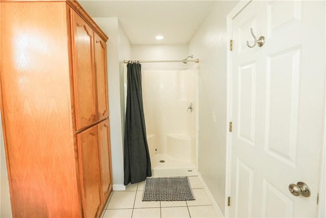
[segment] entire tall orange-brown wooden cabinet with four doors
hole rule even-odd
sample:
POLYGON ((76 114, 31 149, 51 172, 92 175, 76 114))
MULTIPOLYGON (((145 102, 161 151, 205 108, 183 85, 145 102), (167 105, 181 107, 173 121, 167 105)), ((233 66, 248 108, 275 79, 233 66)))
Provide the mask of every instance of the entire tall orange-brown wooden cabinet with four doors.
POLYGON ((112 190, 107 36, 76 1, 1 1, 13 217, 98 217, 112 190))

